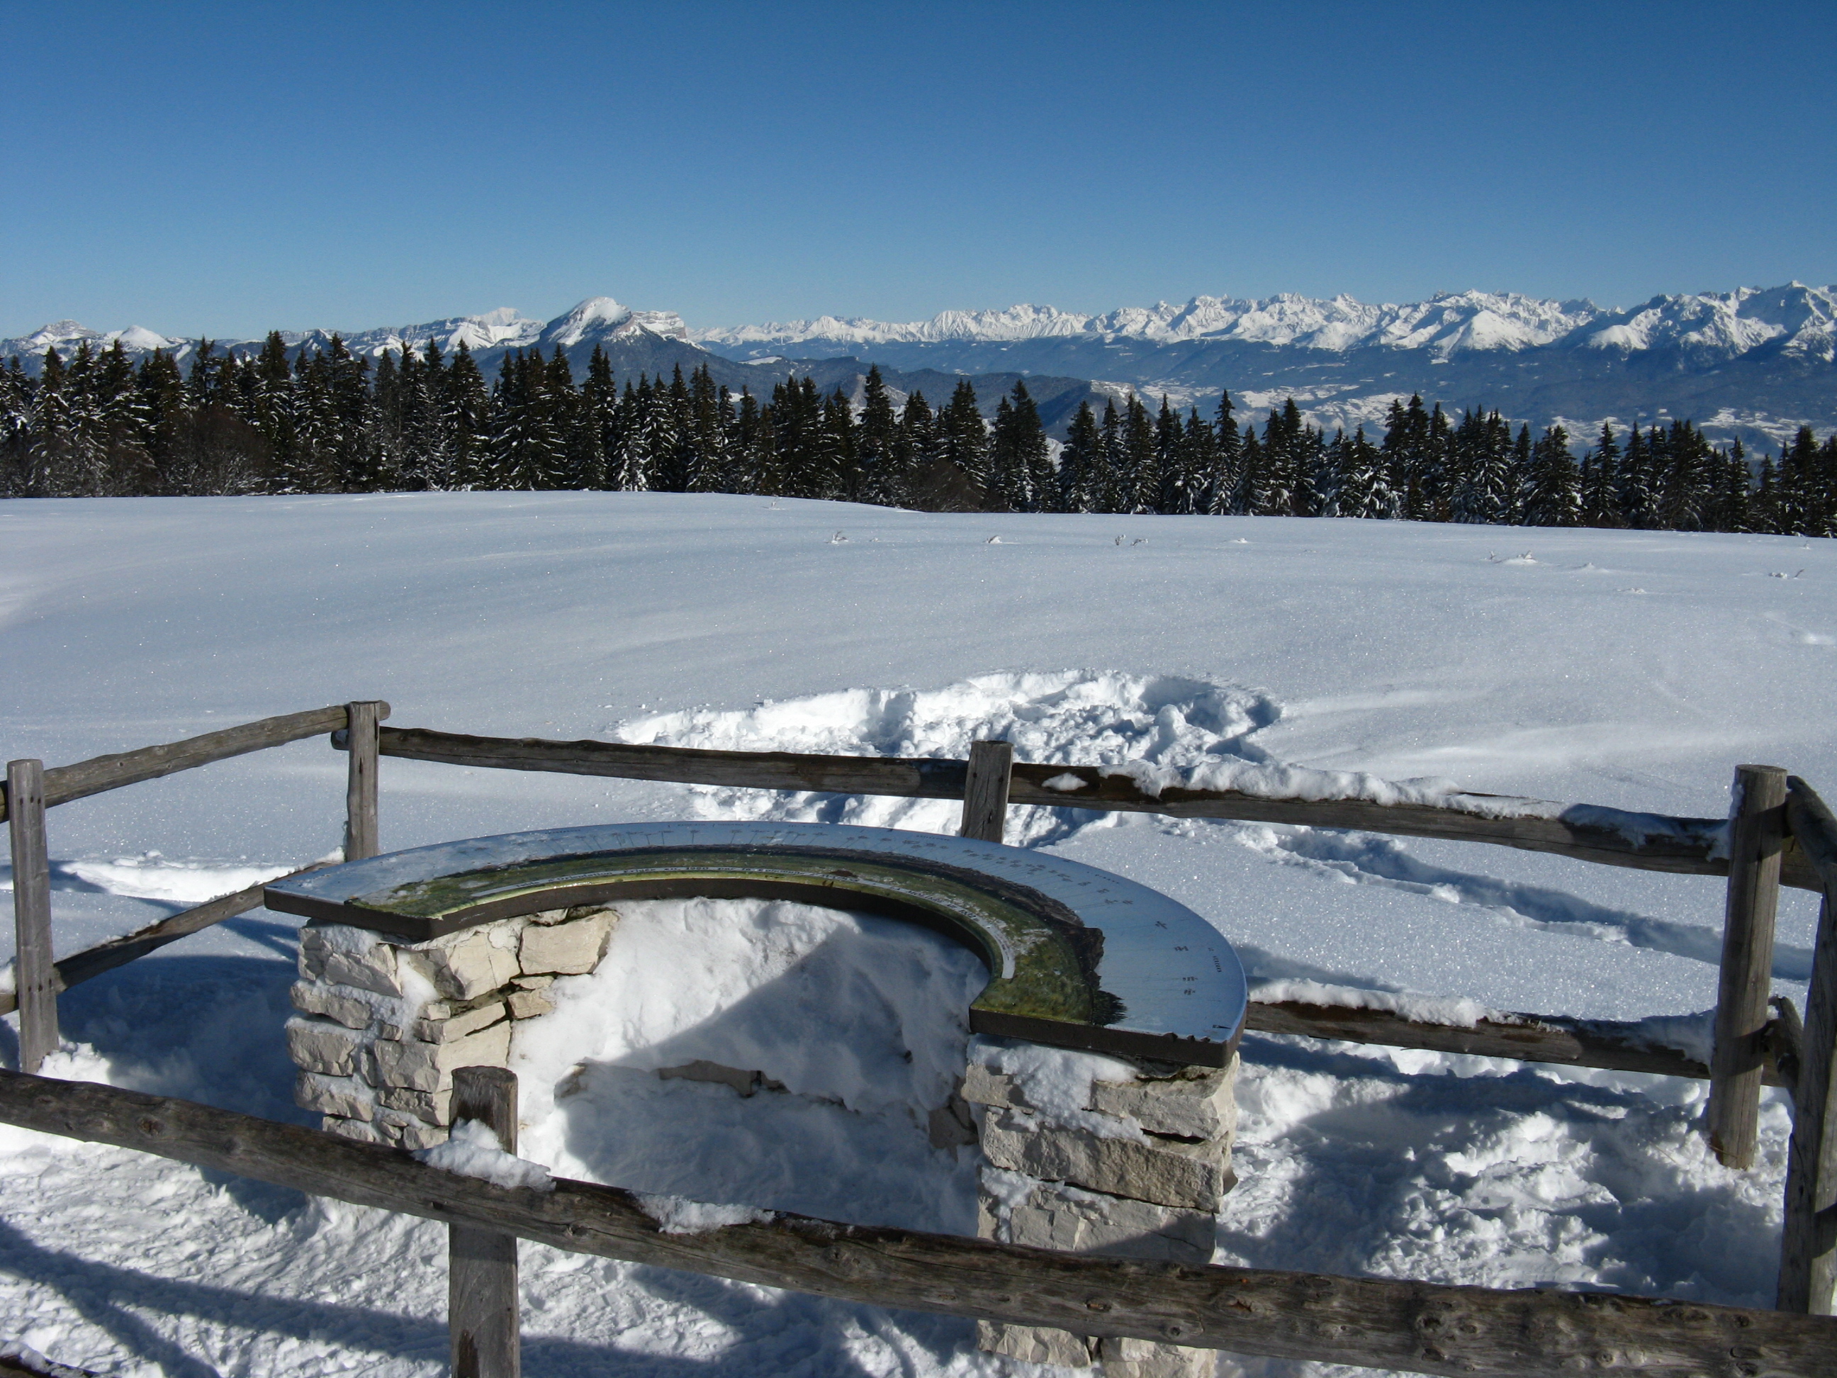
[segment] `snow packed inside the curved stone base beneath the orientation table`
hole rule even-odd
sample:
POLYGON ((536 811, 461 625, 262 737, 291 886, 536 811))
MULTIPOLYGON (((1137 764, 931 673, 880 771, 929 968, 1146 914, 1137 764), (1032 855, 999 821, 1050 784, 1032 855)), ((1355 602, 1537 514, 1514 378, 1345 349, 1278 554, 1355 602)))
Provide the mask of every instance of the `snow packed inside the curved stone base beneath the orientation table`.
POLYGON ((601 965, 560 977, 555 1011, 516 1029, 518 1148, 656 1198, 974 1231, 974 1169, 928 1124, 986 983, 968 948, 896 919, 621 902, 601 965), (665 1075, 698 1062, 733 1080, 665 1075))

